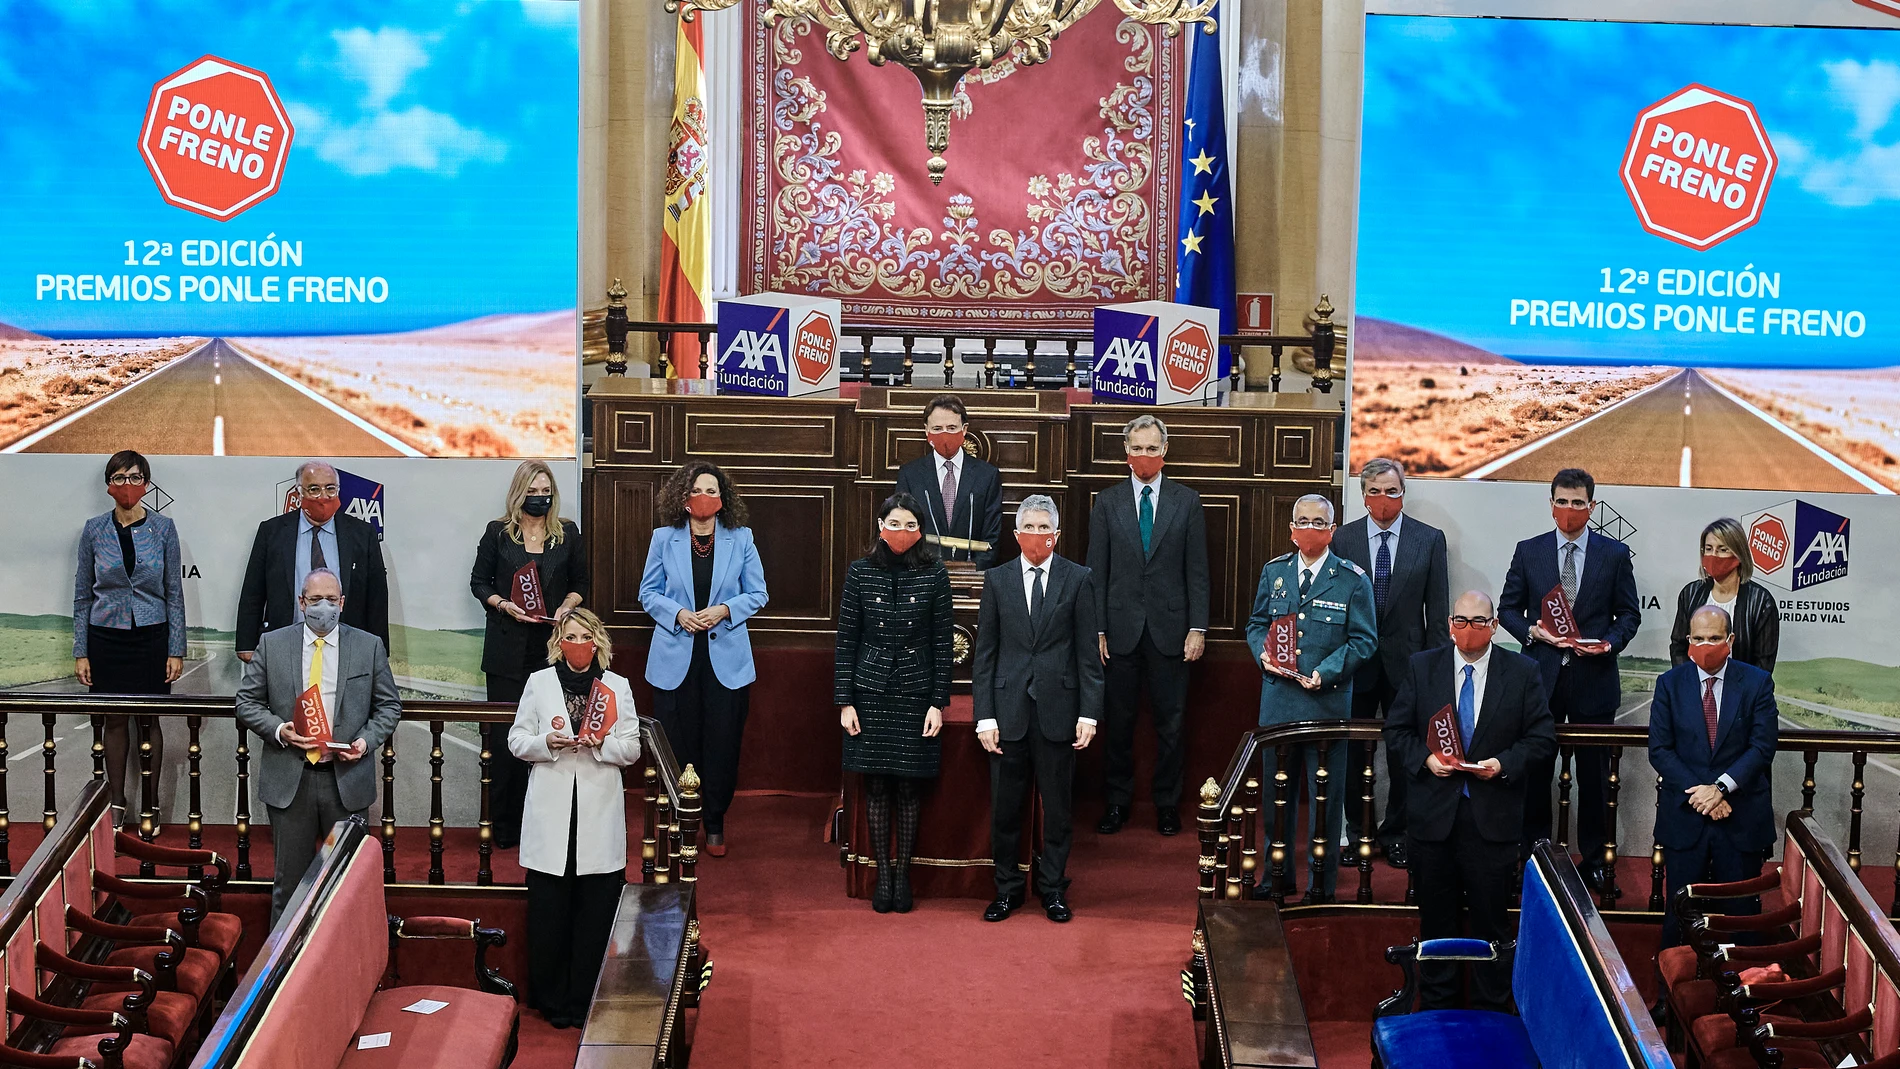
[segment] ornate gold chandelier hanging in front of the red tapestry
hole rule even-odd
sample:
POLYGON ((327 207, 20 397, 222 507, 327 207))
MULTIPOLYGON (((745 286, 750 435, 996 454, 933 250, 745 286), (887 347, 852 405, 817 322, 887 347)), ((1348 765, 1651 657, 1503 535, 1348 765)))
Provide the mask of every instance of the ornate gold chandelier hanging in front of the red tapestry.
MULTIPOLYGON (((667 11, 722 11, 739 0, 665 0, 667 11)), ((950 148, 950 101, 963 76, 988 68, 1016 49, 1020 63, 1049 59, 1056 34, 1094 9, 1100 0, 760 0, 766 25, 809 19, 825 27, 825 49, 838 59, 864 47, 874 66, 897 61, 923 85, 923 141, 931 150, 931 182, 944 180, 950 148)), ((1199 23, 1214 32, 1216 0, 1115 0, 1136 23, 1161 27, 1167 36, 1199 23)))

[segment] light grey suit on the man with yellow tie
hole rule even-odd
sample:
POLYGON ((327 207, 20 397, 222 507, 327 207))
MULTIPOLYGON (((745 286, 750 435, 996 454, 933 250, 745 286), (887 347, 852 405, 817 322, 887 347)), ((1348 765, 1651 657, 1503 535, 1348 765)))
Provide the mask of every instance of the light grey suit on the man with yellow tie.
POLYGON ((270 807, 276 875, 270 892, 270 921, 277 923, 304 870, 317 854, 317 843, 338 820, 369 809, 376 801, 376 761, 384 741, 403 716, 390 674, 390 655, 382 640, 367 630, 338 625, 336 708, 331 710, 338 742, 361 739, 369 752, 359 761, 331 760, 312 765, 304 750, 277 741, 277 729, 296 716, 296 695, 304 691, 304 625, 266 632, 256 657, 245 665, 238 684, 238 722, 262 737, 256 796, 270 807))

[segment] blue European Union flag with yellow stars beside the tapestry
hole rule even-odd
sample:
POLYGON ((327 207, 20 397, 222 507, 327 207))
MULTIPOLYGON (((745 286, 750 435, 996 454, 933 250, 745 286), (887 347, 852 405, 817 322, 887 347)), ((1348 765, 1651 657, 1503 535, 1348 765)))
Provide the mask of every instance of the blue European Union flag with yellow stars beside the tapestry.
MULTIPOLYGON (((1220 309, 1220 332, 1233 334, 1233 186, 1227 180, 1227 108, 1222 104, 1220 4, 1214 32, 1195 32, 1182 120, 1182 201, 1174 243, 1174 300, 1220 309)), ((1233 366, 1220 349, 1220 374, 1233 366)))

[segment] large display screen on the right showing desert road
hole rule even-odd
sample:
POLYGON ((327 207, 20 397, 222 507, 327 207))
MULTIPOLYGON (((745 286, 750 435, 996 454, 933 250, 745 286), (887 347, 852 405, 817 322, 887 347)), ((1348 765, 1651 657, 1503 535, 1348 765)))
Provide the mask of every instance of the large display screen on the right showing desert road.
POLYGON ((1355 471, 1900 488, 1900 32, 1370 15, 1364 55, 1355 471))

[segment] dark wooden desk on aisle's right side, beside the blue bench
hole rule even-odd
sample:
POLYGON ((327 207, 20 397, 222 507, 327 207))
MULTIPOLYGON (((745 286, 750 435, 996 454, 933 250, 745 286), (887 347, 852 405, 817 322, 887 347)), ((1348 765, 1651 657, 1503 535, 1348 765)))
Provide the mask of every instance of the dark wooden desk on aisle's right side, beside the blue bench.
POLYGON ((1294 959, 1273 902, 1201 900, 1195 961, 1184 976, 1205 1018, 1201 1065, 1311 1069, 1319 1065, 1294 959))

